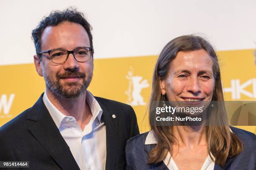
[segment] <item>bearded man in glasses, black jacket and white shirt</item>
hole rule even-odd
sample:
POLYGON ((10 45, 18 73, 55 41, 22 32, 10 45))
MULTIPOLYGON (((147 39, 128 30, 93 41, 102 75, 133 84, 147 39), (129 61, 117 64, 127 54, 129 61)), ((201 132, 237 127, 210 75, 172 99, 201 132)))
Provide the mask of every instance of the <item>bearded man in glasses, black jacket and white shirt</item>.
POLYGON ((121 170, 126 140, 137 135, 131 106, 94 97, 90 24, 68 8, 43 18, 32 37, 34 64, 46 90, 0 128, 0 161, 29 161, 35 170, 121 170))

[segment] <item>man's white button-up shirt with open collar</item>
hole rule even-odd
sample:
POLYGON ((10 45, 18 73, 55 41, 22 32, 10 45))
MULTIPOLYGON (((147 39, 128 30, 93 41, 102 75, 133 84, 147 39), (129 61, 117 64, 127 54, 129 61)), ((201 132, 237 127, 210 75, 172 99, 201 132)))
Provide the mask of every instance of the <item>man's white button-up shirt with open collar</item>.
POLYGON ((86 102, 91 109, 92 117, 84 130, 81 130, 74 117, 64 115, 51 103, 46 91, 43 101, 79 168, 105 170, 106 126, 104 122, 100 122, 102 109, 92 94, 86 92, 86 102))

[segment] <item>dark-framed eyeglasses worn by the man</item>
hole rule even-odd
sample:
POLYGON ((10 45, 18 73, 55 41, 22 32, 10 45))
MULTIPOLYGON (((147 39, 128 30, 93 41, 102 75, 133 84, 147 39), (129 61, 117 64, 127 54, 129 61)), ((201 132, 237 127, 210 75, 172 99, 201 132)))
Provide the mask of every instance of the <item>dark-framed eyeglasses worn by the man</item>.
POLYGON ((48 51, 39 52, 39 55, 48 53, 49 58, 56 64, 63 64, 67 61, 69 54, 73 54, 77 62, 87 62, 92 57, 92 47, 77 47, 72 51, 63 48, 57 48, 48 51))

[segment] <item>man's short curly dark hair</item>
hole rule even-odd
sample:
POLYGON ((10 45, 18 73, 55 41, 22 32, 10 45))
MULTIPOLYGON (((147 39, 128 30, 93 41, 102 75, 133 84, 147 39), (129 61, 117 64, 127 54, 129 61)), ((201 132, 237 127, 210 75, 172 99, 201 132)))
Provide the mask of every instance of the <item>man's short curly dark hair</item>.
MULTIPOLYGON (((38 26, 32 31, 32 40, 34 41, 37 55, 39 55, 39 52, 41 50, 41 35, 44 29, 48 26, 57 26, 65 21, 82 25, 89 36, 90 47, 92 47, 93 49, 91 25, 84 18, 84 14, 77 11, 77 8, 68 7, 63 11, 60 11, 60 10, 51 11, 50 15, 47 17, 44 17, 40 21, 38 26)), ((93 55, 93 50, 92 50, 92 55, 93 55)))

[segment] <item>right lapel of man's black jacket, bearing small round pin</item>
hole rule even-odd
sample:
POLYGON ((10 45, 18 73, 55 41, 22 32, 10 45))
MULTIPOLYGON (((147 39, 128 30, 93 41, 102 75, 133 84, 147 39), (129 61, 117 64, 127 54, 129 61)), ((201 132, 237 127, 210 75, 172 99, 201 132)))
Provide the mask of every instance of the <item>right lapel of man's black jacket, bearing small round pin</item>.
POLYGON ((96 98, 102 109, 101 121, 105 123, 106 126, 106 146, 107 146, 107 156, 106 156, 106 170, 115 170, 117 153, 119 149, 118 145, 118 117, 112 117, 116 115, 116 111, 107 107, 107 103, 100 102, 99 98, 96 98))

